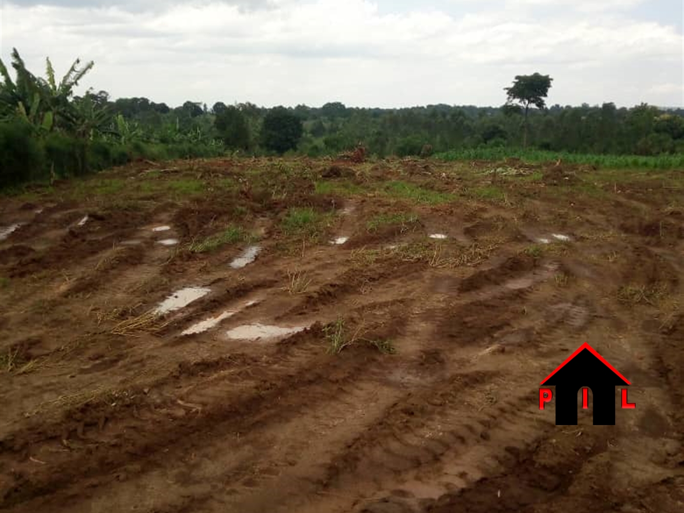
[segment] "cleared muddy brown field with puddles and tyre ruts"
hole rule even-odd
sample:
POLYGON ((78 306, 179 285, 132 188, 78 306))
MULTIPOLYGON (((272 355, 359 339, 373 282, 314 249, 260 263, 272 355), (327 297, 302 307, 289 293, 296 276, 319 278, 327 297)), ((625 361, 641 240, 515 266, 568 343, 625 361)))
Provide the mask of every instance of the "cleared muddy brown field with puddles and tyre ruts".
POLYGON ((683 178, 217 159, 5 196, 0 509, 681 511, 683 178), (615 426, 538 410, 584 342, 633 383, 615 426))

